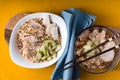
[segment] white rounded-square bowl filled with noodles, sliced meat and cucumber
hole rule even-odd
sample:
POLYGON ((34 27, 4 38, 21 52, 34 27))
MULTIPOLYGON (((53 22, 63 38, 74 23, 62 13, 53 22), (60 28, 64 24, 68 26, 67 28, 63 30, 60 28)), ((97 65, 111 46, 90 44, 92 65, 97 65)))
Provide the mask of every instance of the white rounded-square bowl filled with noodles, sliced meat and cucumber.
POLYGON ((66 45, 64 20, 52 13, 34 13, 15 25, 10 38, 12 61, 25 68, 44 68, 54 64, 66 45))

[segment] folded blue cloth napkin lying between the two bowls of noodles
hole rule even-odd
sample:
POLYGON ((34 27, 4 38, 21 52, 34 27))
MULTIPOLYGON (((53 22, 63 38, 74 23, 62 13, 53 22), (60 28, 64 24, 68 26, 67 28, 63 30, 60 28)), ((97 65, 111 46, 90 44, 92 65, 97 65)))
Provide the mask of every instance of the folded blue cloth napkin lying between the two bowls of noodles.
MULTIPOLYGON (((57 69, 61 65, 74 59, 74 42, 77 36, 85 28, 89 27, 95 21, 96 17, 75 8, 62 11, 62 17, 65 20, 67 26, 67 44, 62 57, 56 64, 55 70, 51 76, 51 80, 77 80, 80 77, 79 67, 69 68, 63 72, 57 72, 57 69)), ((70 63, 67 66, 72 64, 74 63, 70 63)))

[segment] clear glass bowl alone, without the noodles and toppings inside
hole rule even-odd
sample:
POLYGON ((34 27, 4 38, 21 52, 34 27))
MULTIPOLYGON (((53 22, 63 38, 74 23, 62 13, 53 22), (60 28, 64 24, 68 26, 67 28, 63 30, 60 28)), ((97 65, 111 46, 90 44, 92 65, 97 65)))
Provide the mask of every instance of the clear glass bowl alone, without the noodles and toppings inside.
MULTIPOLYGON (((111 36, 115 36, 118 33, 114 29, 111 29, 111 28, 105 27, 105 26, 100 26, 100 25, 91 26, 91 27, 85 29, 84 31, 86 31, 86 30, 93 30, 93 29, 105 30, 111 36)), ((84 31, 82 31, 82 33, 84 31)), ((80 35, 82 33, 80 33, 80 35)), ((115 44, 120 44, 120 39, 116 37, 114 42, 115 42, 115 44)), ((87 71, 89 73, 100 74, 100 73, 105 73, 105 72, 109 72, 109 71, 113 70, 117 66, 117 64, 119 63, 119 60, 120 60, 120 48, 115 50, 115 55, 114 55, 114 58, 113 58, 112 62, 110 62, 109 65, 107 65, 104 68, 101 68, 101 69, 91 69, 91 68, 86 68, 82 64, 80 64, 80 67, 83 68, 85 71, 87 71)))

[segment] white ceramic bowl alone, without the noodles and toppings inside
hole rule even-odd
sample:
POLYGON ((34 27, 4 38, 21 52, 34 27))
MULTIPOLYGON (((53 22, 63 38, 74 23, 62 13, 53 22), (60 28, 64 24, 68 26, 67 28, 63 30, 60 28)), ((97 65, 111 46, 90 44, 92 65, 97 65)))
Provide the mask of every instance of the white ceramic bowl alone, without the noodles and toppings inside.
POLYGON ((48 67, 48 66, 54 64, 56 61, 58 61, 58 59, 62 56, 62 53, 63 53, 63 51, 65 49, 66 40, 67 40, 66 24, 65 24, 64 20, 60 16, 58 16, 56 14, 52 14, 52 13, 29 14, 29 15, 23 17, 22 19, 20 19, 17 22, 17 24, 15 25, 15 27, 14 27, 14 29, 12 31, 11 38, 10 38, 10 45, 9 45, 10 57, 11 57, 12 61, 15 64, 17 64, 17 65, 19 65, 21 67, 25 67, 25 68, 44 68, 44 67, 48 67), (24 57, 22 57, 21 54, 18 51, 17 44, 16 44, 17 31, 21 27, 21 25, 24 22, 28 21, 29 19, 32 19, 32 18, 44 18, 46 15, 50 15, 51 20, 54 23, 57 23, 57 25, 59 26, 61 37, 62 37, 62 48, 58 52, 57 58, 54 58, 49 62, 31 63, 31 62, 25 60, 24 57))

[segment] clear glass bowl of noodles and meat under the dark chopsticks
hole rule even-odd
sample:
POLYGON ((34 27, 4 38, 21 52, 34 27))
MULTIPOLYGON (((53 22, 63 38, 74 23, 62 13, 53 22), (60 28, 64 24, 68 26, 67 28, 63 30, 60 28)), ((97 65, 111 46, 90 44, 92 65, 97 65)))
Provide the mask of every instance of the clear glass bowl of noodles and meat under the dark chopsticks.
MULTIPOLYGON (((104 26, 92 26, 85 29, 76 39, 74 53, 76 56, 94 48, 95 46, 103 43, 108 38, 115 36, 117 33, 112 29, 104 26)), ((99 48, 91 51, 90 53, 80 57, 78 61, 82 61, 95 54, 105 51, 120 42, 119 38, 110 41, 99 48)), ((80 64, 85 71, 89 73, 99 74, 113 70, 118 64, 120 59, 120 49, 108 51, 100 56, 94 57, 88 61, 80 64)))

